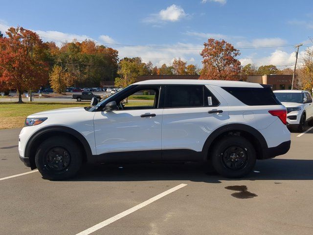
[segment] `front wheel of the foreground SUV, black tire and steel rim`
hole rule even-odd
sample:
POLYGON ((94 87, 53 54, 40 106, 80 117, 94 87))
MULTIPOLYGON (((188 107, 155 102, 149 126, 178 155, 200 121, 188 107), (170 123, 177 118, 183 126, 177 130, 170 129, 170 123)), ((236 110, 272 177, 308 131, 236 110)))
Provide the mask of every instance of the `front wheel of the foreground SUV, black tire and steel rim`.
POLYGON ((56 136, 42 142, 35 163, 44 179, 65 180, 73 177, 82 165, 79 146, 72 140, 56 136))

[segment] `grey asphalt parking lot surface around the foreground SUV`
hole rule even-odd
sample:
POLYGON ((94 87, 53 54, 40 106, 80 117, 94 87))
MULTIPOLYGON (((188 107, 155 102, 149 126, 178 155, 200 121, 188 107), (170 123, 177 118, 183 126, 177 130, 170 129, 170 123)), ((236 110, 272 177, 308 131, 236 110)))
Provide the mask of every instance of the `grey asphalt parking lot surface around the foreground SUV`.
POLYGON ((19 132, 0 130, 0 234, 313 234, 313 130, 291 133, 286 155, 239 180, 199 164, 100 164, 68 181, 16 176, 30 171, 19 132))

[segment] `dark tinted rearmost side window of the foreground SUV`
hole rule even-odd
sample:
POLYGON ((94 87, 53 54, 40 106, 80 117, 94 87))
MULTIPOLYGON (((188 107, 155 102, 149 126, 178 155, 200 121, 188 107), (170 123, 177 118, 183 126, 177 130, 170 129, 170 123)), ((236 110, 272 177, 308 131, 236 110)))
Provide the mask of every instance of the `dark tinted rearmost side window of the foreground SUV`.
POLYGON ((249 106, 257 105, 281 105, 275 94, 269 87, 222 87, 226 92, 232 94, 241 102, 249 106))

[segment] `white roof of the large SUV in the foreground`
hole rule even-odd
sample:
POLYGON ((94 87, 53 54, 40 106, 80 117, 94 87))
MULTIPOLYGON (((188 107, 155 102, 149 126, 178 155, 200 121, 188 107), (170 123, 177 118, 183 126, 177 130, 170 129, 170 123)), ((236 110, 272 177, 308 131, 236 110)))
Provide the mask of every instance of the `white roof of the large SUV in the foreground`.
POLYGON ((240 81, 222 81, 222 80, 193 80, 193 79, 158 79, 146 80, 134 83, 135 85, 212 85, 219 87, 254 87, 263 88, 259 83, 240 82, 240 81))

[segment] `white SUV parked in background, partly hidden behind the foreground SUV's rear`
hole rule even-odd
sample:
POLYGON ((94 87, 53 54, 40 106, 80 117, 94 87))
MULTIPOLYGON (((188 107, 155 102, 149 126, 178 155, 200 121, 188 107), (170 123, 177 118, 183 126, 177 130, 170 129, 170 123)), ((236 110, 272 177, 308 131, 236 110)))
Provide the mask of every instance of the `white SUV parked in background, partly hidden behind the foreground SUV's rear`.
POLYGON ((287 108, 287 122, 298 131, 303 131, 305 122, 313 126, 311 94, 299 90, 274 91, 277 99, 287 108))

